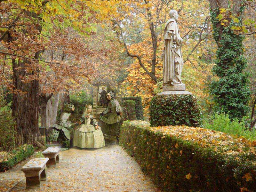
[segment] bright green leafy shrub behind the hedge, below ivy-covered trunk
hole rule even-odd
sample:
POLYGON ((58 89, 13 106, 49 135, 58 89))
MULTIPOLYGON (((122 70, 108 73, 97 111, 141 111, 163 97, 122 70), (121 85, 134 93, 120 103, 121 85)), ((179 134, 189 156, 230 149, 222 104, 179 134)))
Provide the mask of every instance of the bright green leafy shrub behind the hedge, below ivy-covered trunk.
POLYGON ((248 140, 256 140, 256 130, 249 131, 245 127, 244 120, 230 120, 228 114, 215 114, 210 123, 205 124, 206 129, 221 131, 231 135, 244 136, 248 140))

